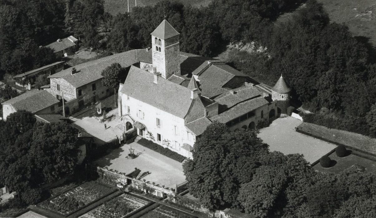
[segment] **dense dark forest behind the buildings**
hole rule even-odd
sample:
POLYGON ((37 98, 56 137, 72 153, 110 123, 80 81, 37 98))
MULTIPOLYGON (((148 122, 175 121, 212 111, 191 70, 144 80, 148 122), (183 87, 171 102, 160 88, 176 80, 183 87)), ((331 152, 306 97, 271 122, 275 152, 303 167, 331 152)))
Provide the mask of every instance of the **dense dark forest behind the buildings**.
POLYGON ((69 35, 111 52, 150 47, 166 16, 184 52, 215 57, 229 43, 264 47, 233 50, 227 61, 271 86, 283 74, 294 102, 316 113, 307 122, 376 135, 374 47, 332 23, 315 0, 216 0, 202 8, 161 1, 116 16, 103 0, 0 0, 0 11, 0 78, 53 62, 52 51, 38 46, 69 35))

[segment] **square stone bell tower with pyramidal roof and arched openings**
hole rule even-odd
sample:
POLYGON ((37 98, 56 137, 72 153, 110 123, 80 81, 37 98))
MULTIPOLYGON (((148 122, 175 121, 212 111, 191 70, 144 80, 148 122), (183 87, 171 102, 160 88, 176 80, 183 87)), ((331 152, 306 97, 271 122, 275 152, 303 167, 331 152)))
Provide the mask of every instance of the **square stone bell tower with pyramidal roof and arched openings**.
POLYGON ((165 79, 173 74, 180 75, 180 33, 167 20, 163 20, 150 35, 152 35, 153 67, 156 67, 156 71, 165 79))

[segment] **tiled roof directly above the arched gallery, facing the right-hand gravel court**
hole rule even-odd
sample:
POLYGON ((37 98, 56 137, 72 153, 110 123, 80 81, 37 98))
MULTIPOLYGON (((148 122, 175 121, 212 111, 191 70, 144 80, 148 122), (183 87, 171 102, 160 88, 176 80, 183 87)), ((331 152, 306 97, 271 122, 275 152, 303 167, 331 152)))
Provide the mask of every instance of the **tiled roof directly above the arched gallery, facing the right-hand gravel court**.
POLYGON ((218 114, 217 116, 211 117, 211 121, 218 121, 221 123, 227 123, 232 119, 240 117, 243 114, 246 114, 250 111, 255 110, 265 104, 268 104, 268 101, 265 98, 257 97, 250 99, 248 101, 241 102, 227 111, 218 114))

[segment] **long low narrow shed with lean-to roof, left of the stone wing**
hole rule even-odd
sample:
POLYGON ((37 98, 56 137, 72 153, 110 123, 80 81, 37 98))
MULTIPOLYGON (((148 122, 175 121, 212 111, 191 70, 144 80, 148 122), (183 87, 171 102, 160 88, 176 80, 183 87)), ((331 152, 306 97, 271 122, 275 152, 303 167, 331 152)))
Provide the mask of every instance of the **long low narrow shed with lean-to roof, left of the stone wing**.
POLYGON ((64 68, 64 61, 55 62, 46 66, 42 66, 38 69, 27 71, 23 74, 15 75, 13 78, 16 81, 17 86, 24 87, 27 90, 31 90, 35 87, 36 77, 39 75, 51 75, 61 71, 64 68))

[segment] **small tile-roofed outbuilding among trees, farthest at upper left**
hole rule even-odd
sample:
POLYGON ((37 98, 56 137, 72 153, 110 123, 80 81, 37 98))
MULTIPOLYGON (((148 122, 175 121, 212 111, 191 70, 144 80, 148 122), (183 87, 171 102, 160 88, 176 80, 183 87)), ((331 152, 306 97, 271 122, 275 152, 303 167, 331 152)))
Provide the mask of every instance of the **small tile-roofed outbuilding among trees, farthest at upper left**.
POLYGON ((64 39, 58 39, 56 42, 46 45, 45 47, 51 48, 57 58, 68 56, 67 53, 74 52, 78 48, 78 39, 73 36, 68 36, 64 39))

